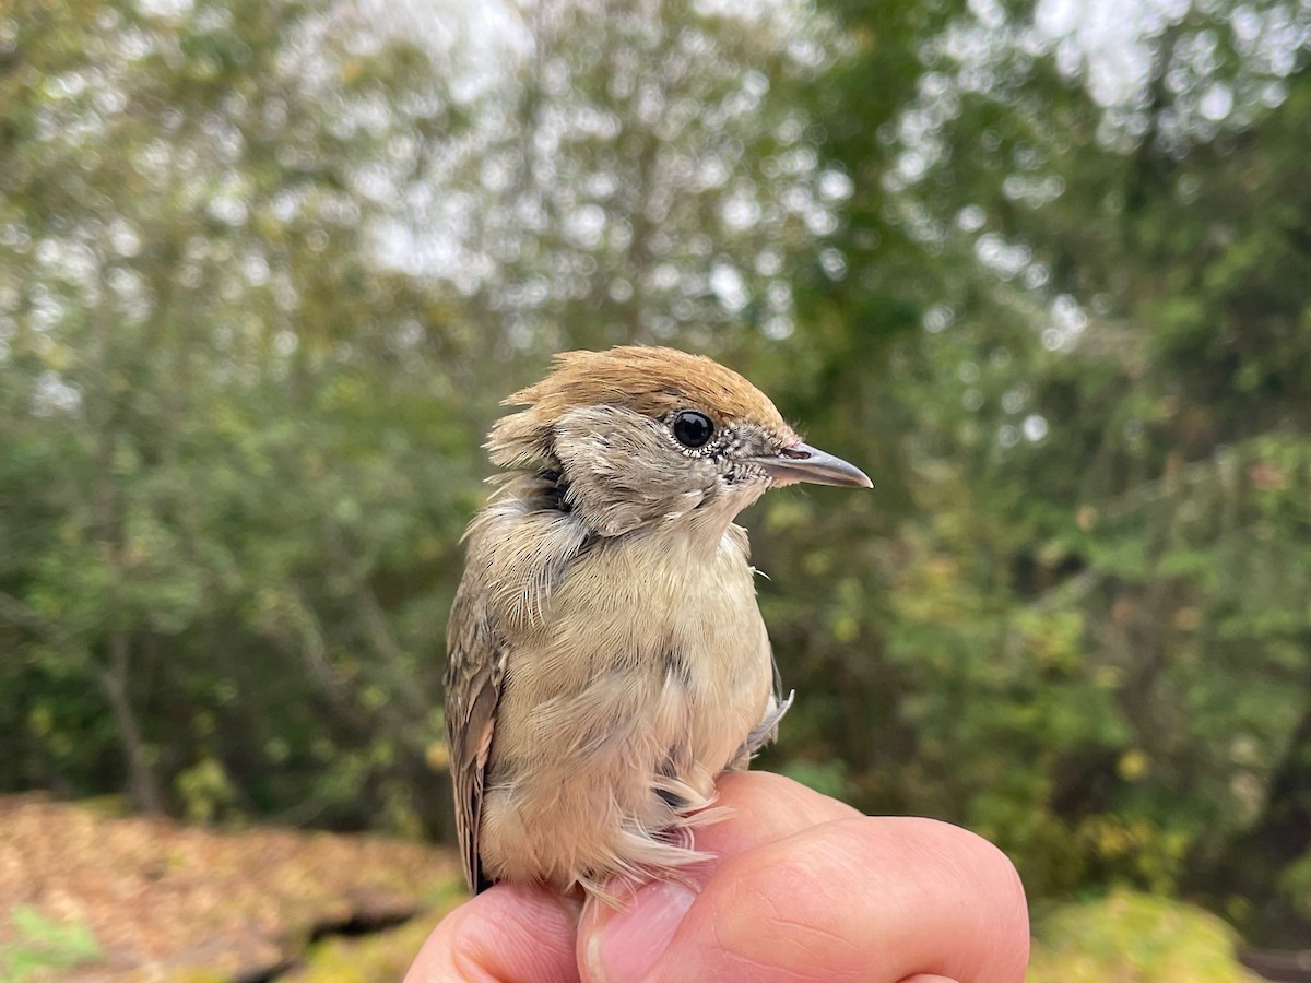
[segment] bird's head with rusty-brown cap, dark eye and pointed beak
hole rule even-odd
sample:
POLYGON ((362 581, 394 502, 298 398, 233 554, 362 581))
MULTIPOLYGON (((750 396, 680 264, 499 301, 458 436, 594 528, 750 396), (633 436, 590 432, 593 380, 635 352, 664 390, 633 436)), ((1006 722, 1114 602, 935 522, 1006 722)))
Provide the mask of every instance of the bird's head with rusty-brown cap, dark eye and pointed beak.
POLYGON ((872 488, 857 468, 801 440, 737 372, 674 349, 570 351, 506 405, 496 464, 558 476, 561 503, 602 536, 705 516, 722 528, 770 488, 872 488))

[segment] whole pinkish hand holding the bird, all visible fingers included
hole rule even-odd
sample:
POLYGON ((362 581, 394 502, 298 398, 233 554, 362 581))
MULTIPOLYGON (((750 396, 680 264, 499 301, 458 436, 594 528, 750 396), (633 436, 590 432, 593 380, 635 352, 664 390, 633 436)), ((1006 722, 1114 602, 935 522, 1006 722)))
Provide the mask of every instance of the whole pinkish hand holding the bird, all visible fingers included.
POLYGON ((729 818, 688 883, 614 910, 497 885, 452 911, 406 983, 1020 983, 1024 887, 1006 856, 932 819, 864 817, 767 772, 720 779, 729 818))

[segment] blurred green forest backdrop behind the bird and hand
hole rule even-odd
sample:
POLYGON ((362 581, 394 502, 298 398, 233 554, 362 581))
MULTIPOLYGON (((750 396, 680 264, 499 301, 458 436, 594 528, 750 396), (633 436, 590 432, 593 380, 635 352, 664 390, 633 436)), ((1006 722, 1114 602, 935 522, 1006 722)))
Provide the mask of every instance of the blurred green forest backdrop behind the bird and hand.
POLYGON ((1311 919, 1311 3, 0 3, 0 790, 450 839, 553 351, 742 371, 764 767, 1311 919))

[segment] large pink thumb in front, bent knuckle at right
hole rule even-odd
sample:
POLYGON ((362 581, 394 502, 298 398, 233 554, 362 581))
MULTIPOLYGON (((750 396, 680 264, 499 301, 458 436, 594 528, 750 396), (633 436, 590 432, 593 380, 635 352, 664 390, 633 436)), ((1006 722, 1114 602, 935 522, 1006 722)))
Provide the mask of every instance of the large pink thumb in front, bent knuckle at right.
POLYGON ((928 819, 812 827, 724 860, 678 903, 684 914, 645 967, 632 948, 610 945, 608 923, 581 938, 587 979, 1019 983, 1028 961, 1015 868, 981 838, 928 819))

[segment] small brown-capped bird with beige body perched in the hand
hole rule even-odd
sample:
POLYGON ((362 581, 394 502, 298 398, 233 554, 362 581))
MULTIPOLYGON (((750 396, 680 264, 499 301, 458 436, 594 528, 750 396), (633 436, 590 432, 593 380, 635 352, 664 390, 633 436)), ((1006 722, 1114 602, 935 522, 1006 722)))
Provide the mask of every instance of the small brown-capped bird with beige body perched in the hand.
POLYGON ((627 346, 557 355, 492 429, 507 469, 467 533, 447 630, 455 819, 473 891, 676 877, 714 779, 791 703, 746 531, 766 490, 872 488, 746 379, 627 346))

